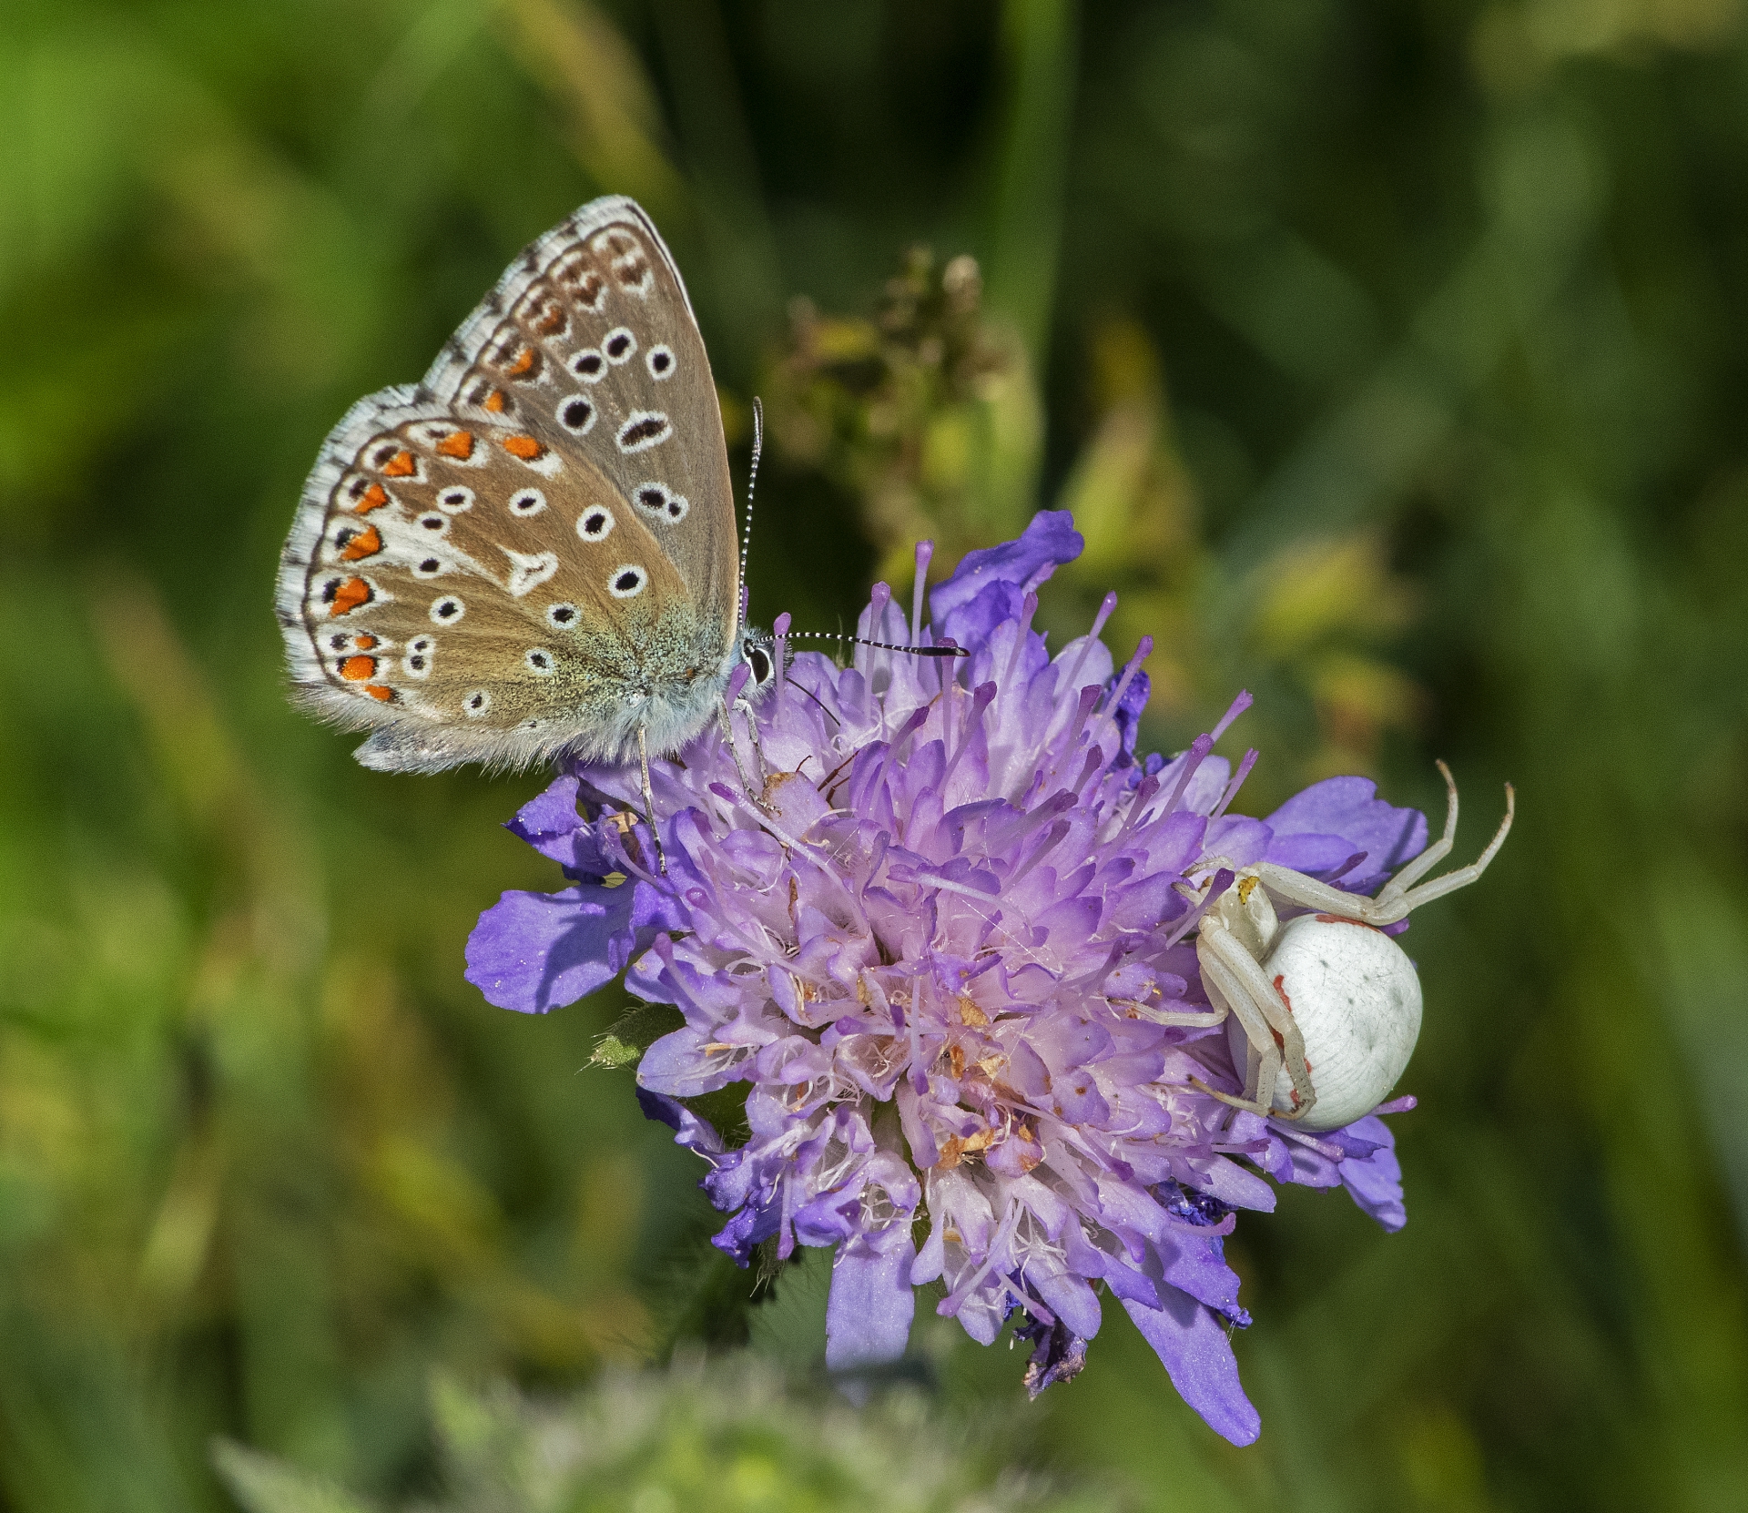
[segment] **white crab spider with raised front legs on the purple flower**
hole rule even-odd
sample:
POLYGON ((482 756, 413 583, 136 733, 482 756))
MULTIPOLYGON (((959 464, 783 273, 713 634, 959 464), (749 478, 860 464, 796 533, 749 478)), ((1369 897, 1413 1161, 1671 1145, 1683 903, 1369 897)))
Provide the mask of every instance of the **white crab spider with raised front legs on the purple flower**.
POLYGON ((1444 762, 1439 770, 1449 791, 1444 835, 1376 898, 1342 893, 1271 861, 1197 863, 1194 870, 1208 874, 1204 889, 1220 867, 1238 874, 1196 929, 1196 959, 1213 1010, 1157 1019, 1225 1022, 1232 1059, 1245 1066, 1245 1095, 1232 1097, 1197 1081, 1203 1092, 1234 1108, 1295 1120, 1306 1130, 1332 1130, 1370 1113, 1395 1087, 1419 1036, 1421 992, 1414 963, 1379 926, 1395 924, 1411 908, 1481 877, 1505 844, 1516 812, 1507 783, 1505 819, 1479 860, 1416 888, 1456 839, 1456 781, 1444 762), (1276 900, 1313 912, 1281 924, 1276 900))

